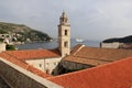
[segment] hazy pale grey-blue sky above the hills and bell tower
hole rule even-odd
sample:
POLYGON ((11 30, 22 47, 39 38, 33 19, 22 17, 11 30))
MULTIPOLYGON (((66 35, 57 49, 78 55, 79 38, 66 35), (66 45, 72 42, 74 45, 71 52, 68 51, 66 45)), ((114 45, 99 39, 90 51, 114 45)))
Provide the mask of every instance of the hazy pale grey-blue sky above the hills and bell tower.
POLYGON ((132 34, 132 0, 0 0, 0 21, 26 24, 53 37, 63 11, 69 18, 72 37, 132 34))

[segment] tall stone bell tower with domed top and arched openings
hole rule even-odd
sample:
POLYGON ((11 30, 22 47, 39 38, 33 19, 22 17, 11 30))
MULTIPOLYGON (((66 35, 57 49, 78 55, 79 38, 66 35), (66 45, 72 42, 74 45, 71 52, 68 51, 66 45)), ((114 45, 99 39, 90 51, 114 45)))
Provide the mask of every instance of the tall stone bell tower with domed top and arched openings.
POLYGON ((70 24, 65 12, 63 12, 59 18, 58 50, 62 57, 70 54, 70 24))

